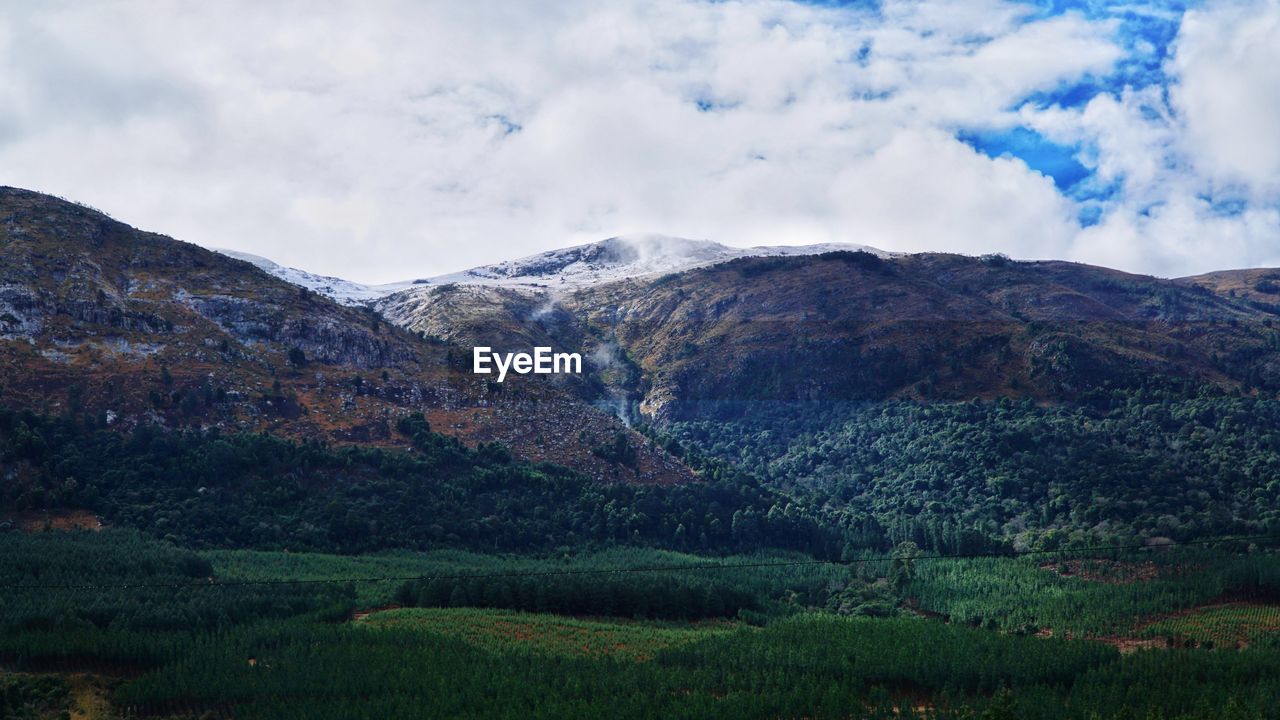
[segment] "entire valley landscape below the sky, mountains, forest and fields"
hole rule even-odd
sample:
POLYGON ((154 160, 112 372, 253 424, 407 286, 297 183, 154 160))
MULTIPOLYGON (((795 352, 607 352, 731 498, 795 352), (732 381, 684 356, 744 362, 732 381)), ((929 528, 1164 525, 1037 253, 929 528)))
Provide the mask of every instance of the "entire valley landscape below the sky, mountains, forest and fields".
POLYGON ((370 287, 0 188, 0 717, 1270 717, 1271 274, 370 287))

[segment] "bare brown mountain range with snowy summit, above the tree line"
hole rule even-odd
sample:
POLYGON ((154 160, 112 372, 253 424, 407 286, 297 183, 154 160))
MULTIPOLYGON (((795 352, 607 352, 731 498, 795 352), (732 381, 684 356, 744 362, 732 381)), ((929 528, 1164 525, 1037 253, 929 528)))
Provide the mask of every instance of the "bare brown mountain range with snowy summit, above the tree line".
POLYGON ((365 286, 14 188, 0 208, 0 338, 10 341, 0 347, 40 378, 8 380, 10 393, 33 387, 56 405, 51 388, 78 387, 79 402, 120 396, 115 415, 165 415, 188 389, 212 388, 234 401, 206 420, 378 442, 389 434, 380 418, 424 405, 471 439, 532 446, 547 433, 515 436, 532 413, 508 407, 513 397, 516 407, 539 398, 541 416, 559 404, 568 416, 594 406, 634 421, 760 401, 1280 388, 1280 273, 1268 269, 1160 279, 998 255, 649 234, 365 286), (472 345, 577 351, 588 373, 490 391, 467 372, 472 345), (179 396, 168 405, 105 379, 160 366, 178 380, 148 392, 179 396))

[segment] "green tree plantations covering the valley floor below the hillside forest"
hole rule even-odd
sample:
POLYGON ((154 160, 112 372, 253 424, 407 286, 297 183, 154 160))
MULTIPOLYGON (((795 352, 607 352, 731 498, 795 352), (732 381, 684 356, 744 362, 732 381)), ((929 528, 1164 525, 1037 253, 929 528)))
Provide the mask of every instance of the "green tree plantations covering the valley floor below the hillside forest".
POLYGON ((813 562, 196 552, 132 530, 8 532, 0 707, 56 717, 68 687, 49 673, 90 670, 120 716, 1267 719, 1280 707, 1274 633, 1210 650, 1166 620, 1151 625, 1160 650, 1130 655, 1088 638, 1143 638, 1149 618, 1224 597, 1261 607, 1277 578, 1280 555, 1236 541, 813 562), (518 610, 525 587, 580 603, 536 610, 614 619, 470 609, 518 610), (717 591, 737 606, 709 606, 717 591), (868 592, 882 610, 844 602, 868 592), (378 611, 413 593, 447 607, 378 611), (648 610, 626 606, 639 597, 648 610))

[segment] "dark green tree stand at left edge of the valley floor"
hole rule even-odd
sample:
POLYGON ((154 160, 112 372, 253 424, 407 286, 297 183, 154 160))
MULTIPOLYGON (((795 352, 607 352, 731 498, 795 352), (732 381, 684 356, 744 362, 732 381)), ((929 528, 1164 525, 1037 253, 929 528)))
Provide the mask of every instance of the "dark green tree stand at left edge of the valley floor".
POLYGON ((211 575, 195 552, 136 532, 0 533, 0 659, 155 662, 198 633, 346 615, 353 600, 339 585, 193 587, 211 575))

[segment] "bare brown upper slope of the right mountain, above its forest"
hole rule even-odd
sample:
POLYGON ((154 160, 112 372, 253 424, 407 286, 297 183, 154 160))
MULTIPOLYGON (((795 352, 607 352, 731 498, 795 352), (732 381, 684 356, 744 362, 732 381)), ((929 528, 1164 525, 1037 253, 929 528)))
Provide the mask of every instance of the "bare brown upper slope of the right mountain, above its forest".
POLYGON ((744 402, 1068 401, 1152 383, 1275 393, 1280 315, 1260 296, 1074 263, 837 251, 563 292, 415 288, 376 306, 463 345, 584 348, 596 369, 625 360, 623 386, 604 386, 669 419, 744 402))

